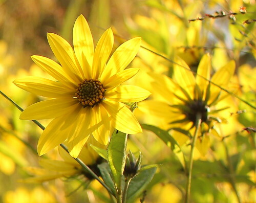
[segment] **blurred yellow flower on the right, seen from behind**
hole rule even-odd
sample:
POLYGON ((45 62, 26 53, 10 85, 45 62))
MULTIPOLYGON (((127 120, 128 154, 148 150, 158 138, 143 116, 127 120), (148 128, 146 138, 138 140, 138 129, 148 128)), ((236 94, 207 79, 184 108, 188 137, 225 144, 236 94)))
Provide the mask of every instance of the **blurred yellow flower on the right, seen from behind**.
POLYGON ((165 75, 150 74, 154 79, 151 92, 157 99, 141 102, 139 109, 144 114, 158 117, 162 122, 161 127, 172 130, 172 134, 191 137, 197 119, 201 119, 202 136, 209 133, 219 135, 216 124, 227 122, 223 111, 230 106, 223 102, 228 94, 220 87, 227 87, 234 69, 234 61, 230 61, 210 77, 210 56, 205 54, 194 76, 189 66, 177 57, 173 79, 165 75))

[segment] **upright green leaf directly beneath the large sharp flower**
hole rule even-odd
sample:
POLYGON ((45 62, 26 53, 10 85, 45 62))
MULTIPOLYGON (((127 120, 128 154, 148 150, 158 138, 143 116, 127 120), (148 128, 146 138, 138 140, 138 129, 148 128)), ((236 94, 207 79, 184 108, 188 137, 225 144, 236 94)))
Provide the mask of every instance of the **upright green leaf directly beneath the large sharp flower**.
POLYGON ((125 165, 127 134, 114 130, 108 146, 108 162, 117 189, 121 188, 121 178, 125 165))

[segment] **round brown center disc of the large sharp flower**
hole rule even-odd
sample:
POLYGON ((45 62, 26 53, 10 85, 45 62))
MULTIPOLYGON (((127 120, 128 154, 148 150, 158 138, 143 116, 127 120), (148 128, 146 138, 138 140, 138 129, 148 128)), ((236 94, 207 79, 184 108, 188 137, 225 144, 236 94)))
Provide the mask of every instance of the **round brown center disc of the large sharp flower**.
POLYGON ((105 89, 98 79, 84 79, 78 84, 75 96, 83 107, 99 104, 104 99, 105 89))

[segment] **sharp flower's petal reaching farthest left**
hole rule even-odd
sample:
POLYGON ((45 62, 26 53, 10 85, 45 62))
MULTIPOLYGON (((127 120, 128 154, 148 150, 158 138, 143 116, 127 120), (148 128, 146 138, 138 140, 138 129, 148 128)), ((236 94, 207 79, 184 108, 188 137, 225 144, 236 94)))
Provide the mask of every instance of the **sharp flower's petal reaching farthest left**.
POLYGON ((74 97, 74 92, 70 89, 67 89, 66 86, 63 86, 59 82, 55 82, 49 79, 40 78, 40 77, 25 77, 22 79, 16 79, 13 83, 35 95, 49 97, 49 98, 63 98, 74 97))

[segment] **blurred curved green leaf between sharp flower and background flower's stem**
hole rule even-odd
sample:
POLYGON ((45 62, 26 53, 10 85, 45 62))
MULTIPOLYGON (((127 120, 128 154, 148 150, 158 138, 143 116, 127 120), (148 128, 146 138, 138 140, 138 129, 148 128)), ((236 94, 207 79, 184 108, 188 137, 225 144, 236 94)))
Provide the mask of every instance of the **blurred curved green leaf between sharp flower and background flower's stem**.
POLYGON ((162 130, 161 128, 158 128, 153 125, 142 124, 141 126, 143 129, 154 132, 172 150, 175 149, 175 145, 177 145, 180 148, 176 140, 167 131, 162 130))

